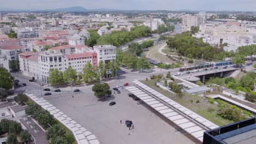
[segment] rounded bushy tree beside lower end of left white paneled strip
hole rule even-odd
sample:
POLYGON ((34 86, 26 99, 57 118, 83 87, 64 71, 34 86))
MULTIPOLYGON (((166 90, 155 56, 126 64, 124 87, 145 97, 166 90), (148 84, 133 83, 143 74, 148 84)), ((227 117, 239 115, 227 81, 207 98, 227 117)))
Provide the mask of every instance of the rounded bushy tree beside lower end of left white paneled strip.
POLYGON ((49 128, 48 131, 46 131, 46 139, 55 139, 56 137, 61 137, 65 134, 65 128, 63 128, 60 124, 55 124, 53 127, 49 128))

